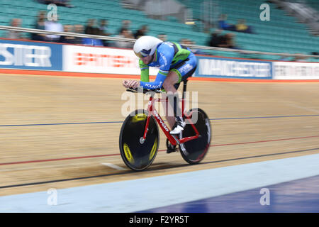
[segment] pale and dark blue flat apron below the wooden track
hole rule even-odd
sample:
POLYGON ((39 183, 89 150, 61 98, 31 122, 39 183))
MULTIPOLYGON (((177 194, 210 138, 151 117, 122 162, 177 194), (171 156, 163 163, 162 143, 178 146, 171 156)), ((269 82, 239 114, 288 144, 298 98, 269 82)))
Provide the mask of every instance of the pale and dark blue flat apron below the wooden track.
POLYGON ((303 155, 57 189, 54 206, 47 191, 0 196, 0 212, 319 212, 318 163, 303 155))

